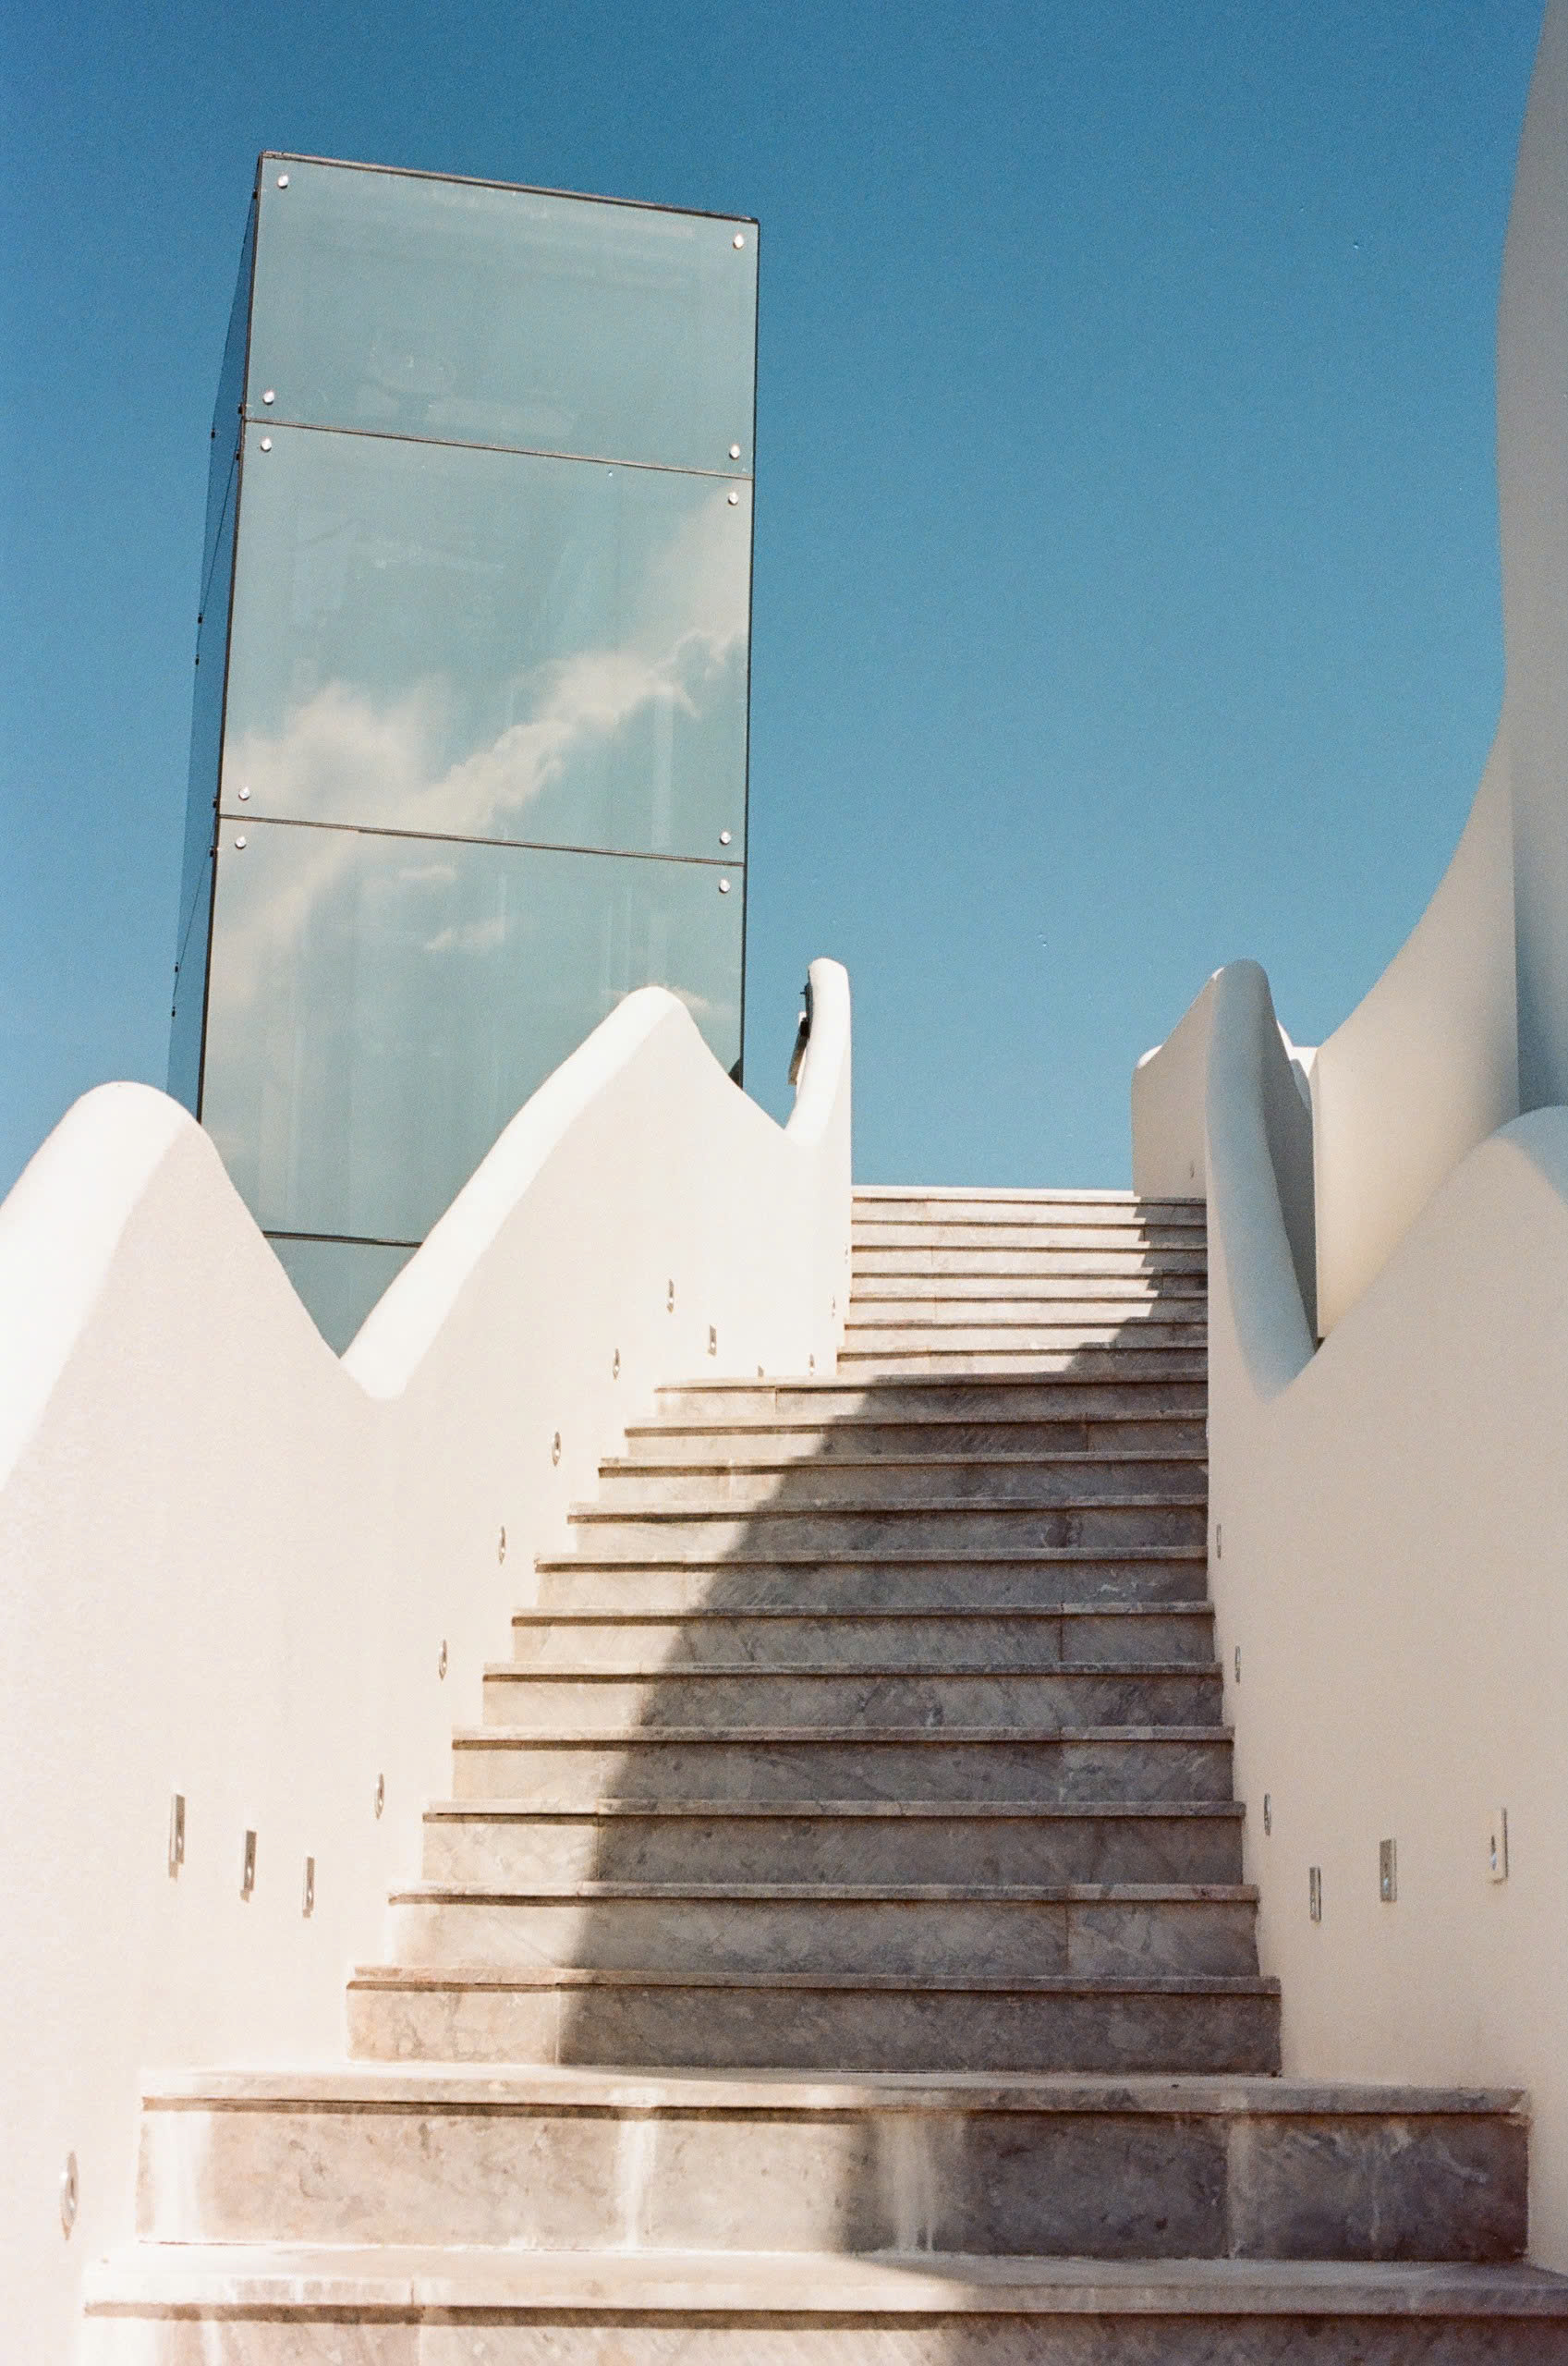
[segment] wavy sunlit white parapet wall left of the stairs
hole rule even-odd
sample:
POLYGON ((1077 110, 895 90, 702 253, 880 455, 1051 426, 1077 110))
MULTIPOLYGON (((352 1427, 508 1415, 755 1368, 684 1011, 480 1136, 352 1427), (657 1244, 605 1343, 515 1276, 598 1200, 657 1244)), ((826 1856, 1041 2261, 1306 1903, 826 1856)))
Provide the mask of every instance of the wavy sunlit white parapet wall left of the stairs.
POLYGON ((80 2269, 132 2231, 142 2068, 341 2058, 343 1976, 381 1952, 452 1727, 478 1722, 534 1554, 561 1550, 653 1386, 832 1368, 849 982, 818 961, 811 984, 785 1129, 674 996, 631 994, 343 1360, 161 1093, 88 1093, 0 1207, 0 2283, 19 2357, 71 2357, 80 2269))

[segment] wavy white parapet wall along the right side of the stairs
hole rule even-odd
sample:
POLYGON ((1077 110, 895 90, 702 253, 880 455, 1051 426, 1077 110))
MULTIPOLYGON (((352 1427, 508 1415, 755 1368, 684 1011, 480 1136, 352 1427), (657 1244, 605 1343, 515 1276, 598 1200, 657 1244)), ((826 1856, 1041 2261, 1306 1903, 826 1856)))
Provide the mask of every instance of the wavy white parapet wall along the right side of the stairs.
POLYGON ((1313 1353, 1268 982, 1199 1010, 1209 1576, 1284 2070, 1525 2087, 1568 2269, 1568 1110, 1471 1150, 1313 1353))

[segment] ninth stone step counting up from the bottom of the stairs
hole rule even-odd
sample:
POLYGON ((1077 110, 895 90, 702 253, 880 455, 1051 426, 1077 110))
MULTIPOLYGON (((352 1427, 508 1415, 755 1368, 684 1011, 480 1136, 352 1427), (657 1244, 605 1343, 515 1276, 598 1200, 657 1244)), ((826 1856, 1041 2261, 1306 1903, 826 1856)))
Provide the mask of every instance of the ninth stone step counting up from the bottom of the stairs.
POLYGON ((1152 1550, 1062 1545, 1036 1552, 643 1554, 539 1559, 539 1607, 575 1611, 700 1609, 963 1611, 1156 1607, 1209 1599, 1206 1545, 1152 1550))

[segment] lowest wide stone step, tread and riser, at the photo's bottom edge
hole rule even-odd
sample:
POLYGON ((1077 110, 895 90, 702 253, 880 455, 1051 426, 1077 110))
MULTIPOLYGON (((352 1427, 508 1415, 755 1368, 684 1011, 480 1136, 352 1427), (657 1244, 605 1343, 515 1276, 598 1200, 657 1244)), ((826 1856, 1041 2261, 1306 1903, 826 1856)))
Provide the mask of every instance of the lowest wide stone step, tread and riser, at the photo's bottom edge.
POLYGON ((1339 2260, 132 2245, 85 2366, 1566 2366, 1568 2281, 1339 2260), (352 2328, 352 2352, 345 2347, 352 2328))

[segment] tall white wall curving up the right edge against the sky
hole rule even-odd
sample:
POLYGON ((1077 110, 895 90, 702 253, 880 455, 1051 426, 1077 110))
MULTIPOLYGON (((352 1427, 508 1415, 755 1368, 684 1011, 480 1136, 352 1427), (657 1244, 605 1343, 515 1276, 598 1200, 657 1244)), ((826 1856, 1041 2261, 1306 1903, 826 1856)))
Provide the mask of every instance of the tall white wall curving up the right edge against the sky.
POLYGON ((1509 213, 1497 504, 1497 741, 1438 892, 1313 1074, 1324 1332, 1466 1150, 1568 1100, 1568 0, 1547 9, 1509 213))

